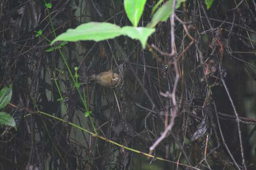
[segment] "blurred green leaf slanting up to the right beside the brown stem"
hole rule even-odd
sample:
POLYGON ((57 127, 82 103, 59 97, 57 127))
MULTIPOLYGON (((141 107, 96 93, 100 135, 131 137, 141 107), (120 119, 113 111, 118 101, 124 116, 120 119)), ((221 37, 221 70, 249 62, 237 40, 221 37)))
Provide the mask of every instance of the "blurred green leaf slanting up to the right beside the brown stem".
MULTIPOLYGON (((175 9, 180 8, 181 3, 184 2, 184 1, 186 1, 186 0, 177 0, 175 9)), ((165 2, 165 4, 162 5, 162 7, 160 7, 155 12, 155 14, 152 17, 151 22, 148 23, 146 25, 146 27, 153 28, 153 27, 156 26, 156 24, 159 21, 162 21, 162 22, 166 21, 173 12, 173 7, 172 6, 173 6, 173 0, 169 0, 169 1, 165 2)))

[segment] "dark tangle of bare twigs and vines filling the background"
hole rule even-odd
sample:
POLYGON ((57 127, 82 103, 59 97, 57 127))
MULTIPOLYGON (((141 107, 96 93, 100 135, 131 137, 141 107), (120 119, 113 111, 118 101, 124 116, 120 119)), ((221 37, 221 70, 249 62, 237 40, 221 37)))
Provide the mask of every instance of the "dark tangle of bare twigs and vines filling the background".
MULTIPOLYGON (((46 52, 46 38, 54 39, 53 27, 58 35, 89 21, 130 25, 121 0, 48 2, 50 16, 42 0, 0 0, 0 87, 13 84, 5 111, 18 126, 0 127, 0 169, 190 169, 146 159, 36 114, 41 110, 93 131, 59 52, 46 52), (38 30, 44 36, 36 37, 38 30), (57 101, 52 78, 63 102, 57 101)), ((151 20, 156 2, 147 0, 140 26, 151 20)), ((187 0, 175 15, 175 55, 170 55, 170 19, 156 26, 146 50, 123 36, 62 47, 72 71, 80 67, 99 135, 148 153, 171 125, 154 156, 201 170, 254 170, 256 3, 215 0, 207 10, 204 0, 187 0), (110 69, 122 77, 118 87, 88 81, 110 69)))

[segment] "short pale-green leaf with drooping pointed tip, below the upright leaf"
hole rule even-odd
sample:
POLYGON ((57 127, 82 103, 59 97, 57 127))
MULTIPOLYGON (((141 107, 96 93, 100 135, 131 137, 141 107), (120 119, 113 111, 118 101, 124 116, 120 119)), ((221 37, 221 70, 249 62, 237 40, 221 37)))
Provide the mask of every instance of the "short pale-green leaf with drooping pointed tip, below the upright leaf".
POLYGON ((132 39, 139 40, 142 44, 143 49, 145 49, 147 39, 151 34, 155 32, 155 29, 146 27, 124 26, 122 27, 122 32, 124 35, 127 35, 132 39))

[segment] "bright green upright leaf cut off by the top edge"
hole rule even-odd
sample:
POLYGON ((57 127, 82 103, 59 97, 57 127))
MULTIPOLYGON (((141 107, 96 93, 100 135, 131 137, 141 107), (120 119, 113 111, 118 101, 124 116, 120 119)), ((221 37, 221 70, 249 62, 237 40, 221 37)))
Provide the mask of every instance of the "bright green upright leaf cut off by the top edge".
POLYGON ((124 0, 125 12, 133 26, 138 25, 145 4, 146 0, 124 0))

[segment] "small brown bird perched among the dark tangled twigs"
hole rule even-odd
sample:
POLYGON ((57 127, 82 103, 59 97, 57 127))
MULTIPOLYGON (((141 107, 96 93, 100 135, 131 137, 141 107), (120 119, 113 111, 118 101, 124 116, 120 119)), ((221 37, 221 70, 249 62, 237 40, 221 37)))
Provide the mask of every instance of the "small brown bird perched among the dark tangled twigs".
POLYGON ((90 76, 90 80, 95 80, 99 85, 110 88, 116 87, 120 82, 119 75, 113 73, 112 71, 101 72, 98 75, 92 75, 90 76))

